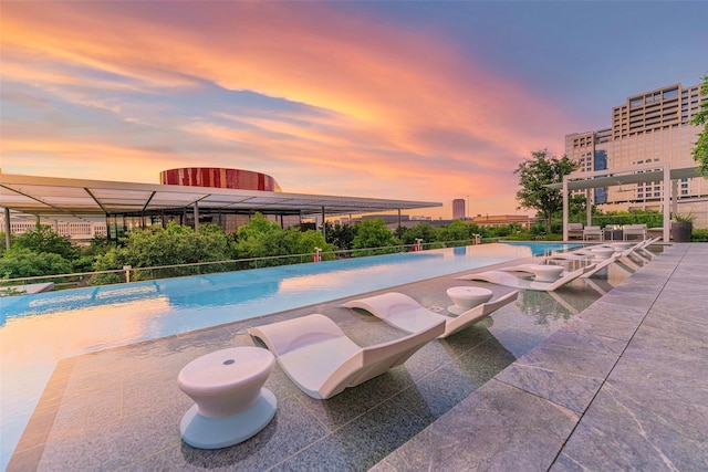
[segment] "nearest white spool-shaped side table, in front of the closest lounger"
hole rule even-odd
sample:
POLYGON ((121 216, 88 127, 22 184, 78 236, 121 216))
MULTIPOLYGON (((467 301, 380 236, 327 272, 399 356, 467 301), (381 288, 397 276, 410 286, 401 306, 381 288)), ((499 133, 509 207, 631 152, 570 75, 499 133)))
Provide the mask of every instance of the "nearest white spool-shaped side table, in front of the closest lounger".
POLYGON ((177 378, 195 405, 179 423, 183 440, 199 449, 238 444, 275 416, 275 396, 263 384, 275 358, 260 347, 233 347, 187 364, 177 378))

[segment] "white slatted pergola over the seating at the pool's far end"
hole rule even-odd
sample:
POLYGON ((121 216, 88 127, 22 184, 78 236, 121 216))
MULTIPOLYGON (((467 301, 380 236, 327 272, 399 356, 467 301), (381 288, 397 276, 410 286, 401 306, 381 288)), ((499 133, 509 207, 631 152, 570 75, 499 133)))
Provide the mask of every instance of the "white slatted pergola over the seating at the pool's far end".
MULTIPOLYGON (((677 212, 678 206, 678 180, 684 178, 700 177, 697 167, 684 167, 671 169, 668 162, 645 164, 622 169, 595 170, 593 172, 575 172, 563 176, 562 183, 551 183, 546 187, 562 190, 563 192, 563 240, 568 241, 568 212, 569 196, 574 190, 585 190, 590 197, 590 190, 600 187, 622 186, 626 183, 663 181, 660 204, 664 214, 663 239, 669 240, 670 213, 677 212), (668 191, 670 186, 670 193, 668 191)), ((590 202, 590 198, 587 198, 590 202)), ((587 204, 587 224, 591 224, 591 206, 587 204)))

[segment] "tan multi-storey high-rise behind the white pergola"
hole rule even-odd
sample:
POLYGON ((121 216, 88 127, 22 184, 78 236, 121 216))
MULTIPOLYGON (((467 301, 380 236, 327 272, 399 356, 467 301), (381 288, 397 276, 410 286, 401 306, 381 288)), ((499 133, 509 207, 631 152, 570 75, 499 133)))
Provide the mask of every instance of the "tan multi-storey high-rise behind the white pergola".
MULTIPOLYGON (((700 85, 668 85, 627 97, 612 109, 612 127, 565 136, 565 155, 580 164, 580 171, 632 169, 668 162, 671 168, 696 166, 691 150, 701 128, 689 120, 700 111, 700 85)), ((653 169, 652 169, 653 170, 653 169)), ((637 170, 637 172, 647 170, 637 170)), ((683 211, 705 212, 708 180, 681 179, 677 189, 683 211)), ((665 189, 662 181, 595 189, 594 201, 605 210, 659 209, 665 189)), ((671 189, 667 189, 669 192, 671 189)))

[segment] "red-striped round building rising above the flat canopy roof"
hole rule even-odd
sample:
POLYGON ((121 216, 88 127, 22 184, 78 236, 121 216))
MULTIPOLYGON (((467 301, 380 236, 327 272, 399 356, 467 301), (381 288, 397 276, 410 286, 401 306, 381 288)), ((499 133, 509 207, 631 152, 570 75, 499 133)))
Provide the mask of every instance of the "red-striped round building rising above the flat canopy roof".
POLYGON ((159 174, 159 182, 170 186, 282 191, 275 179, 269 175, 220 167, 181 167, 163 170, 159 174))

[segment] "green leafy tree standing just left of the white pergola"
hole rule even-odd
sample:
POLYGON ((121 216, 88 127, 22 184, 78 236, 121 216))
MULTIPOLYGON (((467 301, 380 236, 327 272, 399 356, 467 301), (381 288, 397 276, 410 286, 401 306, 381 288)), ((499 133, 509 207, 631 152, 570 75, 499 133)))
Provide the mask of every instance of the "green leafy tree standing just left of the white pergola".
POLYGON ((553 213, 562 210, 563 196, 558 190, 544 187, 549 183, 560 183, 563 176, 577 169, 577 164, 566 156, 549 157, 548 149, 531 153, 532 158, 519 164, 513 171, 519 175, 521 190, 517 192, 520 208, 538 210, 545 221, 545 230, 551 233, 553 213))

